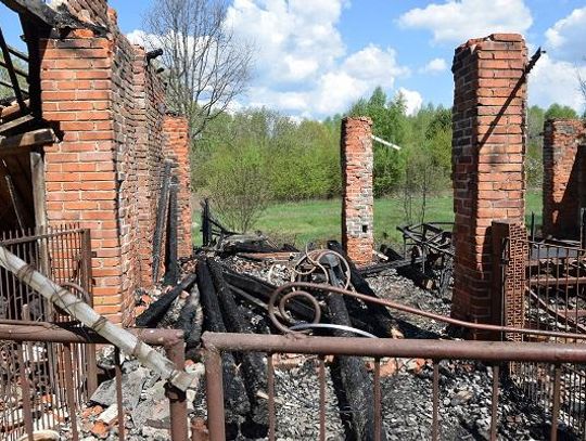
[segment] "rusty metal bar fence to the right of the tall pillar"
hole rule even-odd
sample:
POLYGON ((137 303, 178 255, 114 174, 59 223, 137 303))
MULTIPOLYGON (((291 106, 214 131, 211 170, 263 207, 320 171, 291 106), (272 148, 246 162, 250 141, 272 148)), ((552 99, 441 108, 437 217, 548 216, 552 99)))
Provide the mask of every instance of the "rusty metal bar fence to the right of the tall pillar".
MULTIPOLYGON (((504 271, 509 277, 505 294, 507 323, 524 328, 586 335, 586 250, 563 243, 511 238, 505 247, 504 264, 521 262, 524 273, 504 271), (517 288, 514 288, 517 286, 517 288), (512 288, 511 288, 512 287, 512 288), (509 303, 509 304, 507 304, 509 303), (512 316, 514 315, 514 316, 512 316)), ((507 339, 548 341, 582 347, 583 340, 563 336, 537 337, 507 334, 507 339)), ((586 434, 586 365, 564 363, 559 373, 538 363, 511 363, 510 376, 531 402, 549 408, 555 390, 551 379, 560 376, 560 420, 586 434)))

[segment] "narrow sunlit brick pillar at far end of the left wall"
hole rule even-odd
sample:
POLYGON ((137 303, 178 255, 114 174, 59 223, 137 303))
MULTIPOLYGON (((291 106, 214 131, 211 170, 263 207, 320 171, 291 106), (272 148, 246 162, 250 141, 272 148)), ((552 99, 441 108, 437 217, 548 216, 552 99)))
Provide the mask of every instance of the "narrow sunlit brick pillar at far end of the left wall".
POLYGON ((177 256, 189 257, 193 252, 191 239, 191 168, 190 142, 187 118, 166 115, 163 126, 167 157, 175 163, 174 173, 178 179, 177 211, 177 256))

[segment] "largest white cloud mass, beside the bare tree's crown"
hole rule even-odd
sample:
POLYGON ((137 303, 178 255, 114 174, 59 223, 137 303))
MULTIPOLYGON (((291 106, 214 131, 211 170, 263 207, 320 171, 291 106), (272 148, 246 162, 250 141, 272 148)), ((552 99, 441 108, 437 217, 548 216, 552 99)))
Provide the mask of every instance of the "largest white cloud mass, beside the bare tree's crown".
POLYGON ((395 87, 409 69, 392 48, 347 53, 337 22, 347 0, 234 0, 229 24, 255 47, 252 106, 321 117, 346 111, 377 86, 395 87))

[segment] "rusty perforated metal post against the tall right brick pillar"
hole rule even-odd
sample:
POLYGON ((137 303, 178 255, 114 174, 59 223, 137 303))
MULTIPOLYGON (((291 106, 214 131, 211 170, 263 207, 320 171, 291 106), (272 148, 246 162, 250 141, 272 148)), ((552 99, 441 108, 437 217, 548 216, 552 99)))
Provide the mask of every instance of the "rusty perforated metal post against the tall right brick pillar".
MULTIPOLYGON (((524 327, 525 262, 528 241, 525 225, 512 220, 493 221, 492 322, 524 327)), ((495 336, 497 337, 497 336, 495 336)), ((500 335, 498 340, 521 341, 521 334, 500 335)))

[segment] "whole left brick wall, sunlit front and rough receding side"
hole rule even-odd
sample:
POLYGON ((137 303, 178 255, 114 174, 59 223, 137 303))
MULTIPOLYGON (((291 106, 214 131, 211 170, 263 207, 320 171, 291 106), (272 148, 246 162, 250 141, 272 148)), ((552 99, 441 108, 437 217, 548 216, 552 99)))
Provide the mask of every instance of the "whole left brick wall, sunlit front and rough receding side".
MULTIPOLYGON (((48 220, 91 229, 95 309, 129 324, 135 289, 152 284, 163 160, 171 152, 178 158, 177 143, 164 133, 163 81, 120 34, 114 11, 103 18, 105 1, 64 3, 107 33, 77 29, 41 41, 43 117, 62 139, 46 148, 48 220)), ((191 219, 180 222, 191 228, 191 219)))

